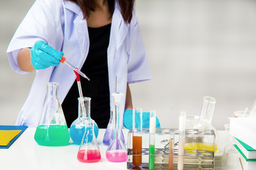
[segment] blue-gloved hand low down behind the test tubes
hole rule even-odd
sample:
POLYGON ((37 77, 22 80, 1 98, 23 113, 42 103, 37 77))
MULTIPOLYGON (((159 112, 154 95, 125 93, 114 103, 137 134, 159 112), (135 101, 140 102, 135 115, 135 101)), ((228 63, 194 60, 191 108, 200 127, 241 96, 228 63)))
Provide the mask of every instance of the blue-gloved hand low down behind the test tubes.
MULTIPOLYGON (((139 114, 135 113, 135 126, 140 123, 139 114)), ((150 113, 149 112, 142 112, 142 128, 149 128, 149 119, 150 113)), ((124 111, 124 127, 127 129, 132 128, 132 109, 127 109, 124 111)), ((161 128, 159 118, 156 117, 156 128, 161 128)))

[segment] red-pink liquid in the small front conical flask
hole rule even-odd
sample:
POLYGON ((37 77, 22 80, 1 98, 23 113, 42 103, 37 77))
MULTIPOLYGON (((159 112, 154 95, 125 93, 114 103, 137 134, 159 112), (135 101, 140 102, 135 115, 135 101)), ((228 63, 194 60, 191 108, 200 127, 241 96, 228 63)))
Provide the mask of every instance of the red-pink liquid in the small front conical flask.
POLYGON ((100 151, 99 150, 80 150, 78 151, 78 161, 85 163, 92 163, 100 161, 100 151))

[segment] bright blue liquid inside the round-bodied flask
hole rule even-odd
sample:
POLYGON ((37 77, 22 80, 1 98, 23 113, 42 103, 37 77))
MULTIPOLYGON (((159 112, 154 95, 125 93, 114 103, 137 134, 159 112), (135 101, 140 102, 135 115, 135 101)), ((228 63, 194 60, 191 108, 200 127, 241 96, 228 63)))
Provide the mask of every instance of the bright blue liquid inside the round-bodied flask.
MULTIPOLYGON (((97 136, 99 135, 99 128, 97 127, 97 124, 94 124, 94 132, 95 132, 95 137, 97 138, 97 136)), ((88 135, 88 139, 85 139, 85 143, 87 142, 92 142, 92 128, 87 128, 87 133, 89 133, 88 135)), ((81 141, 82 141, 82 137, 85 134, 85 126, 75 126, 75 125, 71 125, 70 126, 70 137, 73 140, 75 145, 80 145, 81 141)))

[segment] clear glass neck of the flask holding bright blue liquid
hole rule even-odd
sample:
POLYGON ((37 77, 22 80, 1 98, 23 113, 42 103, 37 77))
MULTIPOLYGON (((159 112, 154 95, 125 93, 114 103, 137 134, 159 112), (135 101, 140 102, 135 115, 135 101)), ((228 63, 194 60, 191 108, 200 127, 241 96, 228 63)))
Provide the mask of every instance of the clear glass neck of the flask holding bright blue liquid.
POLYGON ((91 119, 90 99, 88 97, 78 98, 78 118, 91 119))

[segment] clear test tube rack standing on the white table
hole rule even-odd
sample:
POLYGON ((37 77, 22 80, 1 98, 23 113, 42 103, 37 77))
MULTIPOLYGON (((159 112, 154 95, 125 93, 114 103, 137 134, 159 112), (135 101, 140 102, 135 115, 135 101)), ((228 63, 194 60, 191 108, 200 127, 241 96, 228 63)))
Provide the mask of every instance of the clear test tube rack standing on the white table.
MULTIPOLYGON (((183 157, 183 169, 214 169, 215 145, 214 130, 186 129, 184 154, 178 155, 178 130, 159 128, 155 134, 154 169, 169 169, 169 155, 174 157, 173 169, 177 169, 178 157, 183 157), (174 154, 169 154, 169 141, 173 139, 174 154)), ((127 169, 149 169, 149 129, 129 130, 127 142, 127 169), (142 154, 133 154, 132 137, 135 132, 142 134, 142 154), (133 156, 141 156, 142 164, 134 166, 133 156)))

